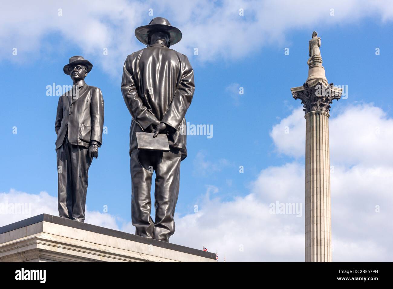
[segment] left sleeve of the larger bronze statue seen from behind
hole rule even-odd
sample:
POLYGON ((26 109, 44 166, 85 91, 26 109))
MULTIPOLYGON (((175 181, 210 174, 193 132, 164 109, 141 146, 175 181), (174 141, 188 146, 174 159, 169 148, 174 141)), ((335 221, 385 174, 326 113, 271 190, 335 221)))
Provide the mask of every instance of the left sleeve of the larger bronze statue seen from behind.
POLYGON ((130 58, 127 57, 123 66, 123 78, 121 80, 121 93, 125 104, 134 121, 145 130, 157 118, 143 105, 143 101, 136 90, 135 81, 133 78, 132 66, 130 65, 130 58))

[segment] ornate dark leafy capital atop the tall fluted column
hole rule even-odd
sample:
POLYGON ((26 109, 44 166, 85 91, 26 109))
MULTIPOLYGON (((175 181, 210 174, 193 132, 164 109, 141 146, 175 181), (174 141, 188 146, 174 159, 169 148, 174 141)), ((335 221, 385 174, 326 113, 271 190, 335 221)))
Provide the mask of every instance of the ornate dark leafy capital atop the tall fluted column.
POLYGON ((325 85, 319 81, 314 85, 304 83, 301 87, 291 88, 294 99, 300 99, 303 104, 305 113, 311 111, 323 111, 329 113, 330 104, 333 99, 340 99, 342 88, 334 87, 333 83, 325 85))

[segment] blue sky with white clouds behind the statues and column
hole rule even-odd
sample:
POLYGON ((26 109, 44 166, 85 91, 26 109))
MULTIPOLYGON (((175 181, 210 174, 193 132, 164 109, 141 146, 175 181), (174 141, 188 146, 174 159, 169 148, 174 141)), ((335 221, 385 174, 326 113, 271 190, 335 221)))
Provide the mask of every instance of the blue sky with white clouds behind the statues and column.
MULTIPOLYGON (((337 171, 342 172, 341 177, 349 174, 348 178, 345 177, 348 182, 357 182, 356 173, 351 169, 361 166, 364 169, 360 171, 381 169, 388 179, 393 177, 391 163, 384 163, 379 158, 380 154, 385 153, 385 159, 391 160, 391 152, 380 151, 367 163, 361 155, 364 150, 365 154, 375 154, 370 152, 375 147, 373 144, 388 149, 386 145, 391 140, 391 5, 384 7, 362 1, 347 4, 332 2, 313 10, 307 7, 307 3, 295 9, 292 7, 294 4, 280 8, 282 4, 278 2, 257 5, 255 2, 224 1, 214 5, 206 2, 205 8, 203 5, 185 4, 184 15, 180 15, 173 1, 165 2, 167 7, 154 2, 116 3, 118 6, 111 9, 102 3, 95 8, 83 4, 86 6, 85 18, 80 11, 72 11, 66 2, 40 4, 42 9, 37 8, 38 15, 27 17, 27 20, 26 17, 22 20, 23 16, 34 13, 34 7, 26 4, 20 15, 15 8, 6 7, 6 13, 14 13, 16 19, 2 19, 4 25, 0 34, 0 39, 4 40, 0 44, 0 84, 3 88, 0 106, 0 192, 4 199, 24 202, 23 198, 27 195, 39 196, 42 191, 47 192, 49 197, 41 196, 41 203, 42 199, 53 202, 50 196, 57 197, 54 120, 59 97, 47 96, 46 86, 52 83, 72 84, 70 77, 62 72, 62 67, 68 63, 69 57, 83 55, 94 65, 86 77, 86 83, 102 90, 104 125, 108 128, 108 134, 103 136, 99 157, 89 170, 86 222, 89 212, 92 212, 90 216, 97 219, 90 217, 91 223, 132 232, 128 155, 131 117, 120 91, 121 72, 127 55, 143 48, 143 44, 134 37, 134 29, 156 16, 168 18, 182 30, 183 40, 171 48, 186 54, 194 68, 196 90, 186 114, 187 121, 213 125, 211 139, 206 136, 187 137, 188 156, 181 166, 176 206, 175 221, 179 220, 179 225, 171 241, 198 249, 203 245, 209 246, 211 251, 221 250, 221 255, 225 252, 229 256, 227 258, 232 260, 303 260, 304 216, 275 219, 272 221, 275 226, 261 226, 259 232, 252 233, 255 226, 242 223, 248 220, 247 217, 234 216, 242 210, 250 212, 255 214, 253 222, 259 224, 258 212, 266 204, 276 200, 304 202, 304 142, 301 146, 301 140, 304 141, 304 120, 301 118, 303 112, 299 109, 300 101, 292 98, 290 88, 302 85, 307 78, 308 41, 314 30, 321 37, 321 56, 329 83, 348 86, 348 98, 332 104, 331 162, 337 164, 337 171), (63 15, 53 16, 63 6, 63 15), (153 16, 148 15, 149 7, 154 9, 153 16), (244 17, 239 16, 239 7, 244 7, 244 17), (33 11, 29 11, 29 8, 33 11), (331 8, 334 8, 334 16, 329 15, 331 8), (72 22, 72 13, 76 14, 74 18, 77 20, 84 19, 85 27, 81 31, 76 29, 75 23, 68 25, 72 22), (124 15, 127 13, 132 15, 128 18, 124 15), (273 17, 274 13, 278 13, 276 17, 273 17), (296 16, 296 13, 300 16, 296 16), (272 18, 263 18, 266 15, 272 18), (44 19, 53 22, 51 25, 42 24, 44 19), (105 47, 108 48, 108 55, 102 53, 105 47), (198 48, 198 55, 193 55, 195 47, 198 48), (17 48, 17 55, 12 55, 13 48, 17 48), (285 48, 289 48, 289 55, 285 55, 285 48), (380 55, 375 54, 376 48, 379 48, 380 55), (239 87, 244 88, 243 95, 239 95, 239 87), (375 117, 375 127, 386 132, 384 138, 374 143, 368 141, 372 138, 370 134, 362 134, 364 129, 356 126, 356 123, 364 120, 365 115, 375 117), (294 132, 290 133, 290 139, 285 139, 283 134, 274 134, 286 123, 294 132), (13 133, 13 127, 17 127, 17 134, 13 133), (332 131, 334 127, 337 127, 336 133, 332 131), (354 131, 354 138, 349 139, 348 136, 354 131), (349 157, 351 151, 354 152, 353 157, 349 157), (239 173, 239 166, 244 166, 244 173, 239 173), (290 172, 295 172, 298 178, 292 180, 294 175, 285 175, 290 172), (270 195, 266 193, 259 199, 253 199, 264 191, 269 191, 270 195), (283 199, 279 199, 279 196, 283 199), (261 206, 242 206, 243 201, 261 206), (104 205, 108 206, 108 213, 103 212, 104 205), (197 217, 195 205, 200 211, 197 217), (228 218, 220 222, 221 218, 216 215, 219 212, 221 217, 233 217, 233 223, 228 223, 228 218), (108 221, 108 218, 112 221, 108 221), (198 223, 195 230, 185 229, 188 221, 198 223), (247 241, 239 240, 242 231, 237 231, 237 227, 248 230, 247 241), (280 228, 284 231, 288 229, 288 232, 282 232, 280 228), (233 232, 229 232, 231 230, 233 232), (272 230, 277 232, 273 233, 272 230), (198 232, 200 237, 195 241, 198 232), (187 237, 189 234, 191 236, 187 237), (281 253, 275 248, 274 243, 277 242, 281 242, 285 248, 281 253), (247 243, 249 249, 241 254, 238 248, 243 243, 247 243), (261 247, 261 243, 266 248, 256 249, 261 247), (296 246, 300 253, 291 257, 285 255, 286 250, 290 252, 296 246)), ((343 218, 356 218, 357 214, 364 214, 367 220, 377 218, 378 228, 373 229, 375 223, 370 223, 368 234, 358 232, 358 235, 355 234, 358 237, 351 237, 345 233, 348 227, 339 225, 340 214, 337 213, 334 220, 332 213, 337 261, 356 258, 391 261, 382 256, 386 250, 391 250, 387 245, 391 236, 379 235, 386 232, 386 226, 391 228, 382 221, 391 217, 391 213, 382 215, 389 214, 385 211, 378 217, 370 217, 367 214, 371 213, 362 211, 363 204, 367 202, 373 206, 379 204, 378 201, 389 205, 393 203, 391 194, 386 194, 386 190, 391 191, 391 188, 387 188, 390 183, 385 178, 380 179, 381 176, 376 173, 375 179, 370 181, 370 188, 373 189, 367 189, 369 194, 366 190, 364 199, 358 199, 360 203, 354 201, 354 206, 348 205, 344 210, 346 214, 342 215, 343 218), (378 192, 373 191, 378 190, 376 184, 381 186, 378 192), (377 236, 371 237, 371 234, 377 236), (360 238, 367 236, 365 241, 369 243, 359 243, 360 238), (358 252, 365 248, 375 251, 370 249, 370 256, 359 257, 358 252), (348 250, 350 253, 345 253, 348 250)), ((339 194, 348 192, 348 183, 340 182, 339 176, 336 178, 332 177, 332 190, 336 189, 336 192, 332 191, 332 206, 340 203, 343 196, 344 200, 351 200, 350 195, 339 194), (334 180, 336 184, 333 184, 334 180)), ((357 175, 357 178, 363 177, 357 175)), ((44 210, 48 210, 45 213, 56 214, 56 203, 54 206, 52 203, 42 203, 41 207, 33 208, 37 214, 44 213, 44 210)), ((332 210, 334 212, 334 208, 332 210)), ((24 219, 23 216, 15 218, 24 219)), ((262 217, 261 222, 266 222, 266 219, 262 217)), ((0 225, 7 223, 3 220, 0 225)))

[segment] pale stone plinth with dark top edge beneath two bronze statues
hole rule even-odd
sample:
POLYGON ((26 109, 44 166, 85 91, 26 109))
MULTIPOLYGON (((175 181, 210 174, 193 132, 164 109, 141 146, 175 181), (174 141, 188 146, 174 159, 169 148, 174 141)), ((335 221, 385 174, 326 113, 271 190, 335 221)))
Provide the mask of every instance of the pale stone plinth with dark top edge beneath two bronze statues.
POLYGON ((216 256, 42 214, 0 228, 0 261, 216 262, 216 256))

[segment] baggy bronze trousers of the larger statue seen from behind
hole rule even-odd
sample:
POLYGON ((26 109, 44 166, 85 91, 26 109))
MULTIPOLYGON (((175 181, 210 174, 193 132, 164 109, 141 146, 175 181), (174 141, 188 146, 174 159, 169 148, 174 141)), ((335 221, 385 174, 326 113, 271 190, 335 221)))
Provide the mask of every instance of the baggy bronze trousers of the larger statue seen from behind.
POLYGON ((136 235, 169 242, 175 229, 173 216, 179 194, 181 157, 179 151, 132 151, 131 218, 136 235), (156 173, 154 221, 151 218, 150 196, 153 170, 156 173))

